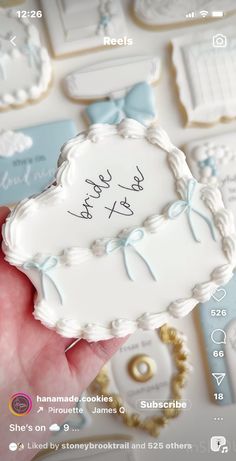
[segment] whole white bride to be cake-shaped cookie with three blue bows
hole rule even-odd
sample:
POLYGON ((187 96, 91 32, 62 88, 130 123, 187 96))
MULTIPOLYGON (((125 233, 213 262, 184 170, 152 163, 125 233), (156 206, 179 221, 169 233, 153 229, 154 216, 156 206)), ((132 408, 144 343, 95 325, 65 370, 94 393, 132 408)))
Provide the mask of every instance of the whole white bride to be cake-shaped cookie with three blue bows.
POLYGON ((3 227, 6 260, 36 286, 44 325, 89 341, 156 329, 231 278, 231 212, 216 187, 193 180, 159 126, 93 125, 63 146, 59 163, 55 183, 3 227))

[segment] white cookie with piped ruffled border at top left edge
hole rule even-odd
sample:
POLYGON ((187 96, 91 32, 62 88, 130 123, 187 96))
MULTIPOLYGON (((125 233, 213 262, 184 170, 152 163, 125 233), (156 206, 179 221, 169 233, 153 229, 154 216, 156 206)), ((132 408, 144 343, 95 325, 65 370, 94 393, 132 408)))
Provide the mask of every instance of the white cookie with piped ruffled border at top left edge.
POLYGON ((0 9, 0 25, 1 110, 37 100, 48 89, 52 68, 28 18, 18 18, 15 10, 0 9), (10 42, 13 35, 15 46, 10 42))

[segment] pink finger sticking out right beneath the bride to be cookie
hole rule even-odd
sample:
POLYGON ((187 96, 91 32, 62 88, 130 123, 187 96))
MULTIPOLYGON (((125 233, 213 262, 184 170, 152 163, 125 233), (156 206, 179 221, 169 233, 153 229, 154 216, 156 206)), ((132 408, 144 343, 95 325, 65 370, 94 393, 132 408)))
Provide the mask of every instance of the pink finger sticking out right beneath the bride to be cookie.
POLYGON ((89 343, 81 339, 79 343, 66 353, 71 372, 78 381, 80 391, 86 389, 97 376, 102 366, 127 341, 124 338, 114 338, 107 341, 89 343))

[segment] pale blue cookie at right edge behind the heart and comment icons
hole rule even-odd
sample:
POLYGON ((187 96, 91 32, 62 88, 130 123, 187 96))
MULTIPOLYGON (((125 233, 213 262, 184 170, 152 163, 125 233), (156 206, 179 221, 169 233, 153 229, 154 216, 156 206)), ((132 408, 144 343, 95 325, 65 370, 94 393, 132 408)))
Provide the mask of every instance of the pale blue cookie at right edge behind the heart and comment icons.
POLYGON ((217 385, 216 380, 212 377, 214 392, 222 392, 224 394, 223 400, 215 401, 218 405, 229 405, 235 402, 231 385, 231 370, 228 368, 226 357, 219 358, 213 356, 215 350, 224 350, 224 344, 214 344, 211 340, 211 333, 218 328, 227 333, 229 324, 233 320, 236 320, 236 273, 230 282, 224 286, 224 289, 226 290, 226 296, 222 301, 217 302, 214 298, 211 298, 210 301, 199 304, 198 307, 209 373, 226 373, 220 386, 217 385), (211 309, 226 309, 227 316, 212 317, 211 309))

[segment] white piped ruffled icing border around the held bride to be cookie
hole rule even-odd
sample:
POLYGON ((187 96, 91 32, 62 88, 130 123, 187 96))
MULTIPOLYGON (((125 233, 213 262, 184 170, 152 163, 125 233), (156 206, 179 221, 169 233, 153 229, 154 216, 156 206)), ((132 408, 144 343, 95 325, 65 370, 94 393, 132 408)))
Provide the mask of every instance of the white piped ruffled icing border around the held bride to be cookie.
MULTIPOLYGON (((154 144, 167 153, 167 159, 170 169, 173 173, 176 183, 176 190, 181 199, 185 198, 186 182, 192 178, 192 175, 185 162, 185 155, 181 150, 175 147, 168 138, 165 131, 157 125, 144 127, 140 123, 126 119, 119 125, 92 125, 87 132, 83 132, 67 142, 61 150, 59 169, 56 174, 56 181, 48 189, 38 196, 23 200, 12 211, 3 226, 3 251, 5 259, 15 266, 22 266, 25 261, 32 259, 30 255, 22 254, 20 251, 19 235, 17 235, 17 225, 19 220, 23 219, 29 213, 37 211, 39 206, 47 203, 53 198, 54 203, 64 200, 65 185, 71 182, 71 173, 73 169, 73 159, 79 155, 78 145, 86 140, 99 142, 106 136, 119 135, 124 138, 142 139, 146 138, 151 144, 154 144)), ((210 280, 196 285, 192 290, 192 297, 178 299, 172 302, 166 311, 159 313, 145 313, 137 320, 115 319, 108 326, 89 323, 80 325, 75 320, 61 318, 58 320, 56 313, 51 309, 45 299, 36 299, 34 316, 45 326, 56 329, 64 337, 84 338, 88 341, 97 341, 98 339, 109 339, 112 337, 126 336, 133 333, 137 328, 144 330, 156 329, 166 323, 170 317, 183 317, 187 315, 199 302, 206 302, 210 299, 215 290, 226 284, 233 275, 235 267, 235 236, 234 220, 231 211, 224 208, 221 193, 216 187, 203 187, 201 190, 202 199, 210 210, 216 228, 218 229, 222 250, 226 256, 227 263, 217 267, 211 273, 210 280)), ((149 232, 156 232, 168 216, 153 215, 148 217, 144 226, 149 232)), ((60 255, 61 263, 76 264, 76 255, 82 259, 87 258, 87 252, 90 249, 68 248, 60 255), (82 253, 81 253, 82 251, 82 253), (64 259, 63 259, 64 258, 64 259), (65 259, 69 258, 69 259, 65 259)))

